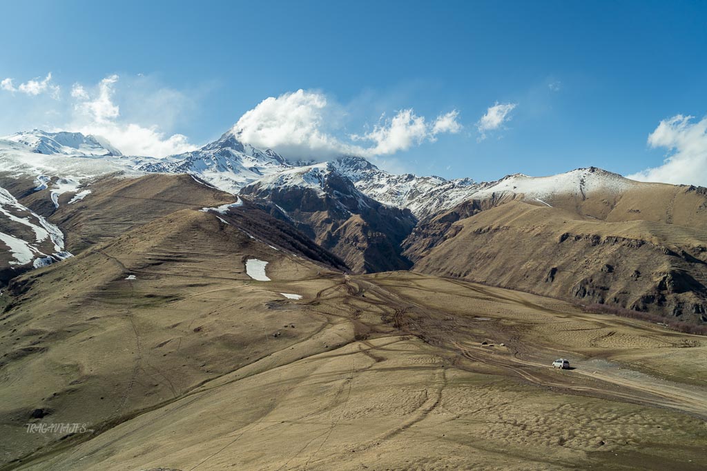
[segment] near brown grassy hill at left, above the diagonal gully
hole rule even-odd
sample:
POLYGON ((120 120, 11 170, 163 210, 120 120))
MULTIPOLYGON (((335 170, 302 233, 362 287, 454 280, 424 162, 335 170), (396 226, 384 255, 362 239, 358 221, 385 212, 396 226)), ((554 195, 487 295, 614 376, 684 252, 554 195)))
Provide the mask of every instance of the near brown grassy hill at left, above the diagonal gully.
MULTIPOLYGON (((268 354, 261 340, 282 327, 278 282, 317 272, 328 273, 217 215, 180 210, 13 280, 0 335, 4 460, 47 439, 23 430, 35 410, 110 427, 268 354), (269 262, 274 291, 245 273, 248 258, 269 262)), ((298 329, 273 347, 318 325, 287 321, 298 329)))

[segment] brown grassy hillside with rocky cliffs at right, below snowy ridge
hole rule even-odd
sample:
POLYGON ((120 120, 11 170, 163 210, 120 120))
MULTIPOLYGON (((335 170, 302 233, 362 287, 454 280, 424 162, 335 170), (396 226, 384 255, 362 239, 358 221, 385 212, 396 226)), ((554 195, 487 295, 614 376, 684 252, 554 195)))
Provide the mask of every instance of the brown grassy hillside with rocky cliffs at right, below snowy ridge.
POLYGON ((404 242, 414 270, 707 321, 704 189, 493 197, 421 221, 404 242))

